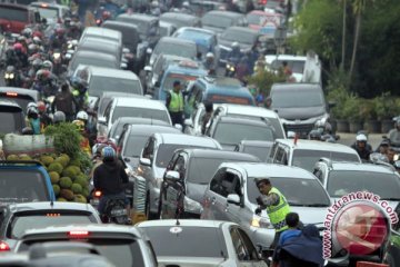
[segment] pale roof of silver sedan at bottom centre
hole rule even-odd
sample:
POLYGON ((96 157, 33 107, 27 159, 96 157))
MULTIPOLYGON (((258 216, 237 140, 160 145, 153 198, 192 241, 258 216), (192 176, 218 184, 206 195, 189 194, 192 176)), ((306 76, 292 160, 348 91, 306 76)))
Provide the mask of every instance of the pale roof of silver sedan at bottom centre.
POLYGON ((137 227, 157 227, 157 226, 179 226, 179 227, 207 227, 207 228, 219 228, 224 224, 237 225, 231 221, 222 220, 200 220, 200 219, 180 219, 177 225, 176 219, 163 219, 163 220, 146 220, 137 224, 137 227))

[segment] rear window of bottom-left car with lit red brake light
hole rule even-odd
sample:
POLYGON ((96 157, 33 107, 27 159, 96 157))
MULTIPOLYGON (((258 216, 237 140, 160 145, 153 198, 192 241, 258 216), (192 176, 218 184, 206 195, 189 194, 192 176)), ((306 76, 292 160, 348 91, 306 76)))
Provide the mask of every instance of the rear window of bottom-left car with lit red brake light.
MULTIPOLYGON (((29 240, 21 244, 18 251, 27 251, 36 243, 66 241, 68 239, 40 239, 29 240)), ((137 240, 117 239, 110 237, 74 239, 71 241, 84 241, 96 246, 99 253, 118 267, 144 267, 141 247, 137 240)))

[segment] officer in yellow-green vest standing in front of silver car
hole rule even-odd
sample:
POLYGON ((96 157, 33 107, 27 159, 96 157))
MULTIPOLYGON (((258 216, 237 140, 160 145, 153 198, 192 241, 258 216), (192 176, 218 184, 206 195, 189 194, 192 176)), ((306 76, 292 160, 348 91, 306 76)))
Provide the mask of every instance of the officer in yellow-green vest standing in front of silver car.
POLYGON ((262 195, 256 199, 259 207, 256 209, 254 212, 261 214, 262 209, 267 209, 270 221, 276 229, 276 235, 271 244, 271 249, 273 249, 282 231, 288 229, 286 216, 290 212, 290 206, 286 197, 276 187, 271 185, 270 179, 258 178, 254 179, 254 181, 259 191, 262 195))

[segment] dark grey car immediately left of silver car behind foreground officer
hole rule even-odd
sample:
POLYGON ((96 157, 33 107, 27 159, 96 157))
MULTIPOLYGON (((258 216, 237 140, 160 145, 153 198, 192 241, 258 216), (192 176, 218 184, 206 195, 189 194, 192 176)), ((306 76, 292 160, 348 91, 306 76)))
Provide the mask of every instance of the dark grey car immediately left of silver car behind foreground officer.
POLYGON ((259 162, 249 154, 179 149, 169 162, 161 188, 160 218, 200 218, 201 200, 213 174, 226 161, 259 162))

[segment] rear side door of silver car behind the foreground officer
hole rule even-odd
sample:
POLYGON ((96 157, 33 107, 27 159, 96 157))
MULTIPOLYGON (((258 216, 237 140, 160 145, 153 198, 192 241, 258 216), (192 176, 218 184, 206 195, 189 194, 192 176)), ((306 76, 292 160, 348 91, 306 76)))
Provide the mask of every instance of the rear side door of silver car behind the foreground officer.
POLYGON ((227 168, 219 169, 211 179, 209 188, 204 194, 204 210, 201 215, 206 219, 228 220, 227 218, 227 197, 228 191, 222 182, 226 177, 227 168))

